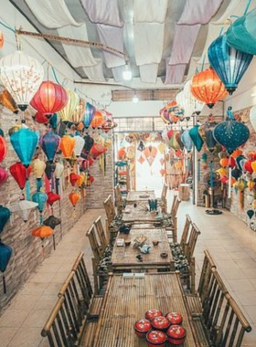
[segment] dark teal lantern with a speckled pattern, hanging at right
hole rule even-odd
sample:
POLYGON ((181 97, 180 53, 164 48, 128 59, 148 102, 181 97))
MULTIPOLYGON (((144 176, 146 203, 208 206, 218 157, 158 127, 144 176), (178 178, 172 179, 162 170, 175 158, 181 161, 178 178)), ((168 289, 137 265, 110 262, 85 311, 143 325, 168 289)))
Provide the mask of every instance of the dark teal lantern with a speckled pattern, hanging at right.
POLYGON ((213 136, 231 154, 240 145, 247 142, 250 131, 246 125, 235 120, 230 107, 227 110, 227 114, 227 120, 222 121, 215 127, 213 136))

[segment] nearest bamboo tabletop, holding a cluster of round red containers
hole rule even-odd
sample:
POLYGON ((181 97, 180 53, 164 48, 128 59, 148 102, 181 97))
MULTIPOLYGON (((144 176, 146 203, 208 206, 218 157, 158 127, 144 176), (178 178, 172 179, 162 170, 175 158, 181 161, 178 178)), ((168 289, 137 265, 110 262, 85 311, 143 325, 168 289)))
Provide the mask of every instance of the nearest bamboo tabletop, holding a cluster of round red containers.
POLYGON ((92 347, 146 347, 145 339, 135 335, 133 324, 149 309, 181 313, 187 330, 184 347, 199 346, 178 275, 147 273, 143 279, 110 276, 92 347))

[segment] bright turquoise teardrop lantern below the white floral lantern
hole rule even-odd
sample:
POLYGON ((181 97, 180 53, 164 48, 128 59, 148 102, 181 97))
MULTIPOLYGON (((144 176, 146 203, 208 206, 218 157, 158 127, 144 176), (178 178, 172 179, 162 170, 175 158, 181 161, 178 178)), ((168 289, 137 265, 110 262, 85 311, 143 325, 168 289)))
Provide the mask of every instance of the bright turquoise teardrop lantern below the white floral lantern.
POLYGON ((11 143, 21 163, 28 167, 37 148, 37 134, 29 129, 20 129, 10 137, 11 143))

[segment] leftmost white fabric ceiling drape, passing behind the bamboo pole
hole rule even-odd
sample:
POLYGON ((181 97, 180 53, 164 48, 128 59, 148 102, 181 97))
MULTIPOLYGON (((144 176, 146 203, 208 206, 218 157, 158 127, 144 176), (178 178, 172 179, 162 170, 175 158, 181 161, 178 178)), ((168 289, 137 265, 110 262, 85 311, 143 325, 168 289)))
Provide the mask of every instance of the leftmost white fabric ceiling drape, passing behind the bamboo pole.
MULTIPOLYGON (((43 26, 56 28, 59 36, 88 41, 85 24, 78 23, 69 13, 64 0, 26 0, 27 5, 43 26), (56 16, 58 14, 58 16, 56 16)), ((81 67, 89 79, 104 81, 101 59, 92 56, 91 48, 62 43, 69 62, 74 68, 81 67)))

